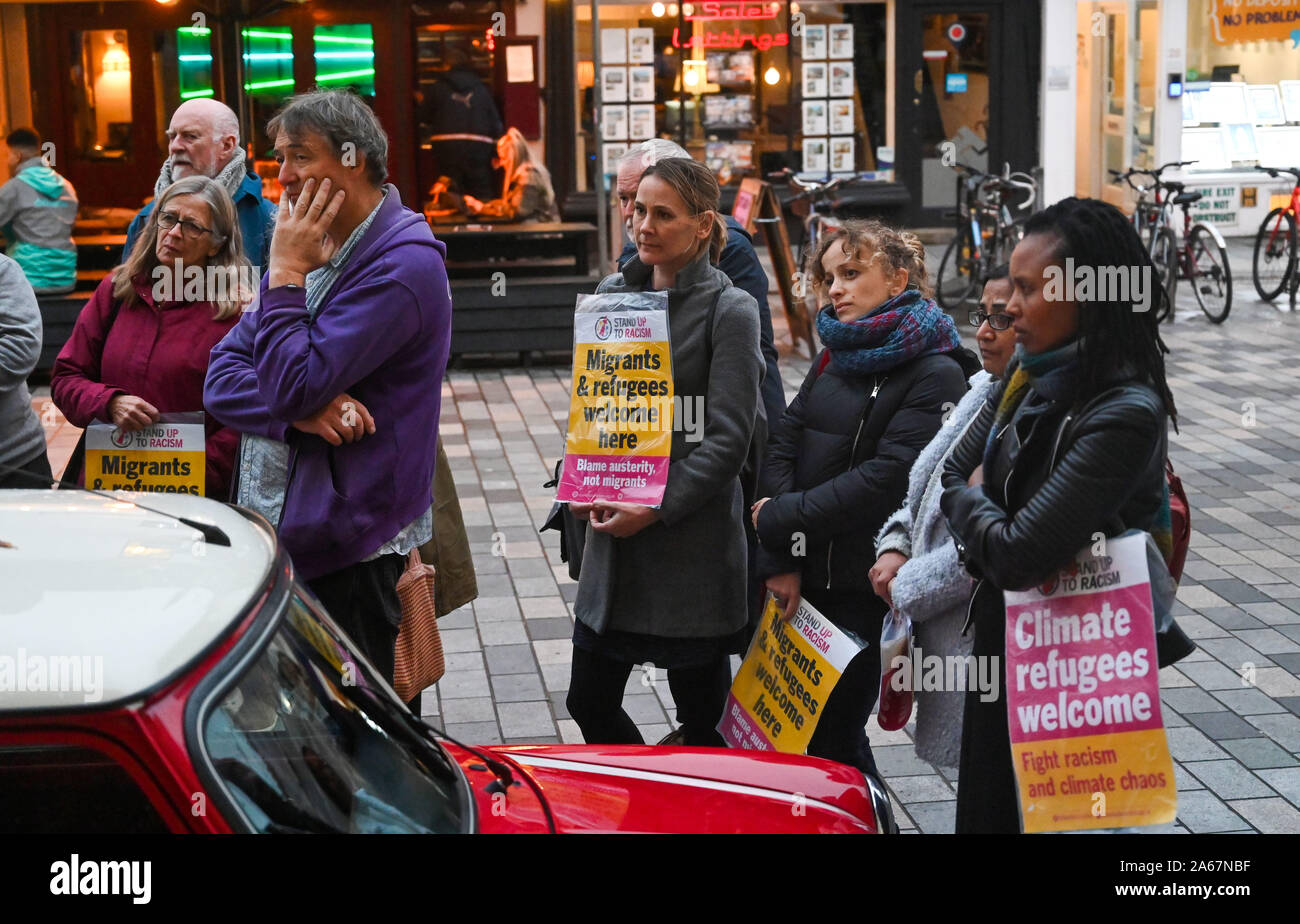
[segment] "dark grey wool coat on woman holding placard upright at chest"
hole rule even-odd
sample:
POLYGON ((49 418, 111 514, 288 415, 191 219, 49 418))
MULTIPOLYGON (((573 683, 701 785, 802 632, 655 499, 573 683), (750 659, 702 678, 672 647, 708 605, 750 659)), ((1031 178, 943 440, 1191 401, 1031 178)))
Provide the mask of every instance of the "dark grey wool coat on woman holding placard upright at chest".
MULTIPOLYGON (((623 273, 602 279, 597 292, 641 291, 650 273, 633 257, 623 273)), ((740 472, 763 377, 754 298, 710 265, 706 251, 668 291, 668 337, 673 395, 705 398, 702 439, 688 442, 673 428, 656 522, 624 539, 588 525, 573 611, 597 633, 728 635, 746 620, 742 517, 749 511, 740 472)))

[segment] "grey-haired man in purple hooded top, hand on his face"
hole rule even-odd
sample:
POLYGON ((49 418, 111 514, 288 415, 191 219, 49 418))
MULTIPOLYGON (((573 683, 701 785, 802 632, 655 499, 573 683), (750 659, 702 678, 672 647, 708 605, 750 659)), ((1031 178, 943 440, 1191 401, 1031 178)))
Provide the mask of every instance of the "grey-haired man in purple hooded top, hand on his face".
POLYGON ((451 338, 446 248, 385 185, 360 97, 292 97, 268 125, 285 188, 257 303, 212 351, 204 404, 242 431, 235 500, 393 677, 406 555, 433 535, 451 338))

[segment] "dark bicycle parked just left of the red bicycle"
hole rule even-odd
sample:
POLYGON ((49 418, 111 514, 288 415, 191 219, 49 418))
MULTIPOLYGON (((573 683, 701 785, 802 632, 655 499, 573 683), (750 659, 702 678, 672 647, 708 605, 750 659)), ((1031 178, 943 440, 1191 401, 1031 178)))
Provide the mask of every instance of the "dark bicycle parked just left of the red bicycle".
POLYGON ((1150 255, 1156 273, 1167 279, 1170 316, 1174 311, 1174 292, 1179 279, 1192 283, 1192 295, 1210 324, 1223 324, 1232 311, 1232 268, 1227 261, 1223 235, 1213 225, 1192 221, 1191 207, 1202 199, 1201 192, 1188 192, 1187 185, 1164 179, 1161 174, 1196 161, 1173 161, 1153 170, 1139 170, 1153 177, 1154 217, 1152 224, 1150 255), (1162 195, 1165 194, 1165 195, 1162 195), (1178 238, 1170 209, 1183 212, 1183 235, 1178 238))

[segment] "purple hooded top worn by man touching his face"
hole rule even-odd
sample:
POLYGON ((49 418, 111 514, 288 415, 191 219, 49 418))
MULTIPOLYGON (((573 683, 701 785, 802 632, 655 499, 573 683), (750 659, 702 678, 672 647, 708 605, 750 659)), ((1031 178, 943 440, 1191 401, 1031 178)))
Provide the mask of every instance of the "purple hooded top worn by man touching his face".
POLYGON ((312 580, 361 561, 429 509, 451 346, 446 247, 393 186, 315 317, 266 287, 212 350, 203 402, 240 433, 287 442, 280 538, 312 580), (374 434, 330 446, 291 428, 346 391, 374 434))

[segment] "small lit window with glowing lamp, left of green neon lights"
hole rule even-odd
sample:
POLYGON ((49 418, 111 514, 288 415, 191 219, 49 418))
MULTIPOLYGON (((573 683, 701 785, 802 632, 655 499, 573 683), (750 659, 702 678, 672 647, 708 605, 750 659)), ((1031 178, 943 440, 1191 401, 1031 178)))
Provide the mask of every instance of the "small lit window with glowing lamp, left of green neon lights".
POLYGON ((73 120, 78 153, 92 160, 131 156, 131 53, 124 30, 74 32, 73 120))

